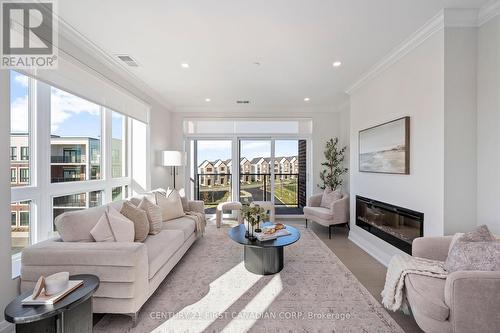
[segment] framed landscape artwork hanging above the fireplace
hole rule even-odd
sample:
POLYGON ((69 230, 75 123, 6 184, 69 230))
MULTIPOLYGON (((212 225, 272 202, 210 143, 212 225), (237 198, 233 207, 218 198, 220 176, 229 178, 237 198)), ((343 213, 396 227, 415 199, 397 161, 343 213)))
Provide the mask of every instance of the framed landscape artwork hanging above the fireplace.
POLYGON ((359 171, 410 174, 410 117, 359 131, 359 171))

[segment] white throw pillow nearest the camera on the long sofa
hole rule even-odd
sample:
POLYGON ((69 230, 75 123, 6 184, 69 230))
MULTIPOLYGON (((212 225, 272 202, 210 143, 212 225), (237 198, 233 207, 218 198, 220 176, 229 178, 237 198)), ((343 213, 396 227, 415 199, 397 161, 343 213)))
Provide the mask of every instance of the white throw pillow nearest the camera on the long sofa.
POLYGON ((90 234, 96 242, 133 242, 134 222, 109 207, 90 230, 90 234))

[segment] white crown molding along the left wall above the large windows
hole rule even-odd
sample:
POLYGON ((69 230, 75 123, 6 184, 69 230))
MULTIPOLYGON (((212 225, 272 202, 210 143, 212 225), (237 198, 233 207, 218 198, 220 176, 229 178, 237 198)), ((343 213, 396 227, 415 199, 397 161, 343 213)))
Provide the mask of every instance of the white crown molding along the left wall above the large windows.
MULTIPOLYGON (((100 48, 97 44, 92 42, 78 30, 76 30, 73 26, 71 26, 68 22, 64 21, 60 16, 57 17, 57 21, 59 24, 59 34, 73 43, 77 48, 82 49, 87 52, 90 56, 96 58, 102 65, 108 68, 110 71, 116 73, 120 77, 122 77, 127 83, 129 83, 132 87, 137 89, 139 92, 149 97, 151 101, 148 101, 149 104, 151 102, 156 102, 166 108, 168 111, 173 111, 174 107, 169 102, 167 102, 161 94, 155 91, 151 86, 149 86, 146 82, 144 82, 141 78, 131 72, 128 68, 125 67, 124 64, 120 63, 118 59, 108 54, 102 48, 100 48)), ((64 51, 64 50, 63 50, 64 51)), ((66 52, 66 51, 65 51, 66 52)), ((68 52, 66 52, 68 53, 68 52)), ((69 54, 69 53, 68 53, 69 54)), ((78 59, 76 55, 71 55, 78 59)), ((82 63, 84 63, 82 61, 82 63)), ((134 92, 130 91, 130 88, 123 87, 123 85, 115 82, 118 86, 123 89, 129 91, 131 94, 135 95, 139 99, 143 99, 140 96, 137 96, 134 92)))

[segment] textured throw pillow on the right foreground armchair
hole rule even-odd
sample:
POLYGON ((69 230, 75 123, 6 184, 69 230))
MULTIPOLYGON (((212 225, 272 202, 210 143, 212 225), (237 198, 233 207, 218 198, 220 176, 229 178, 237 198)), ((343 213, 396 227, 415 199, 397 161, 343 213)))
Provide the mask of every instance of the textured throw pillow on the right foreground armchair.
POLYGON ((446 258, 444 268, 455 271, 499 271, 500 242, 462 242, 455 243, 446 258))

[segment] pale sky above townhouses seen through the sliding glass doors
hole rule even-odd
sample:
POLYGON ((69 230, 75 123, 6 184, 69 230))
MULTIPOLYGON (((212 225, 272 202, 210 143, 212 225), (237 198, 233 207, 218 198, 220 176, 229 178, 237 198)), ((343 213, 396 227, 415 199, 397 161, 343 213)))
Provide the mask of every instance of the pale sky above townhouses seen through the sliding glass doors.
MULTIPOLYGON (((298 155, 298 140, 276 140, 275 156, 298 155)), ((270 140, 242 140, 241 156, 251 160, 254 157, 271 157, 270 140)), ((231 158, 230 140, 198 140, 198 164, 204 160, 216 161, 231 158)))

